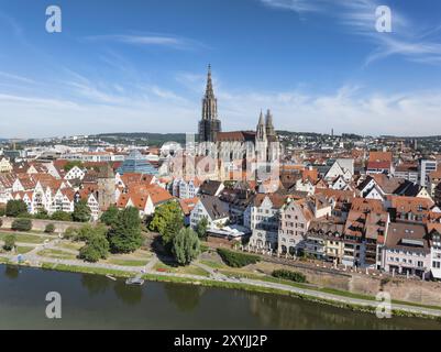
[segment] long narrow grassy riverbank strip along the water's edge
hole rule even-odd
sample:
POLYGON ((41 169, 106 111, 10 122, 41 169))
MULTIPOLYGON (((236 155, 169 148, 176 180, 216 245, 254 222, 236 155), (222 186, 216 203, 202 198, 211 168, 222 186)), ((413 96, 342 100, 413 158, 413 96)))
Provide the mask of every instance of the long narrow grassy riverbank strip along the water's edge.
MULTIPOLYGON (((126 278, 134 275, 133 271, 123 270, 109 270, 102 267, 81 266, 81 265, 67 265, 63 263, 42 263, 40 266, 23 265, 30 267, 38 267, 42 270, 70 272, 70 273, 85 273, 95 275, 112 275, 114 277, 126 278)), ((241 289, 254 293, 276 294, 283 296, 290 296, 308 301, 324 304, 338 308, 350 309, 354 311, 375 314, 378 301, 374 297, 372 299, 362 299, 350 297, 349 295, 337 295, 313 290, 310 288, 296 287, 287 283, 271 283, 258 282, 255 279, 213 279, 212 277, 173 273, 144 273, 143 278, 151 282, 176 283, 187 285, 198 285, 207 287, 218 287, 225 289, 241 289)), ((438 307, 437 307, 438 308, 438 307)), ((434 307, 421 307, 407 302, 396 304, 393 302, 392 314, 397 317, 417 317, 426 319, 441 320, 441 309, 434 307)))

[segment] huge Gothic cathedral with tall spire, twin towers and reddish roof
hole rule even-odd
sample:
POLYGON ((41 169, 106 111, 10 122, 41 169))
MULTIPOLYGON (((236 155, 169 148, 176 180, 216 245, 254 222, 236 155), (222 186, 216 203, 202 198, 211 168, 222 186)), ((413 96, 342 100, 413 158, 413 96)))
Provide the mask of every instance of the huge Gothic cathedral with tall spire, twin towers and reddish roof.
POLYGON ((280 155, 278 136, 269 110, 265 116, 261 111, 255 131, 222 132, 211 66, 208 67, 207 88, 202 99, 202 119, 199 121, 198 131, 198 155, 210 155, 224 162, 254 160, 267 163, 277 161, 280 155))

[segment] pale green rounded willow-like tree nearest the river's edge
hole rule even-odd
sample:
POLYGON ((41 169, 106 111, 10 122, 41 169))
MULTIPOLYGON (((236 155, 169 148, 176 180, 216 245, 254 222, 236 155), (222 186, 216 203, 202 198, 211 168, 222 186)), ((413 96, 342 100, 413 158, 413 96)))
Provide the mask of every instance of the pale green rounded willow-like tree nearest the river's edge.
POLYGON ((200 241, 190 228, 180 229, 173 238, 172 253, 180 265, 188 265, 200 254, 200 241))

